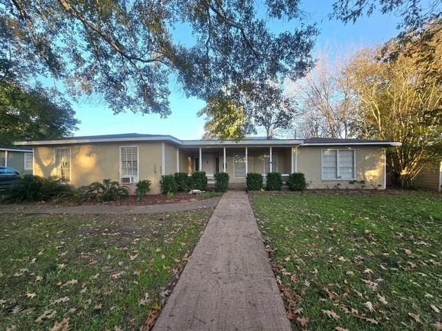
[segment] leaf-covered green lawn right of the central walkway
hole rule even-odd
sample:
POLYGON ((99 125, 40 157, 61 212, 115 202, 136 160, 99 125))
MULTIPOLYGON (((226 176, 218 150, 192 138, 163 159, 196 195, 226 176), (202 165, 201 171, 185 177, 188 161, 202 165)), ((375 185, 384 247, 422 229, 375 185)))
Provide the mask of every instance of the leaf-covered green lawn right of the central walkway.
POLYGON ((441 330, 441 194, 251 201, 294 330, 441 330))

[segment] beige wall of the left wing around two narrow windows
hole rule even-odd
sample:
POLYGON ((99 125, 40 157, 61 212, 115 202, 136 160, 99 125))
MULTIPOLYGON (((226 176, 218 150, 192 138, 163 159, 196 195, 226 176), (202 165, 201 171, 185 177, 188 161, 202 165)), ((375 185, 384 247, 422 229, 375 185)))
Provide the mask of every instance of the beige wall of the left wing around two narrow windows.
MULTIPOLYGON (((119 148, 138 146, 140 180, 151 181, 151 194, 160 192, 162 143, 95 143, 68 146, 36 146, 35 174, 50 177, 55 174, 54 148, 70 148, 71 183, 88 185, 94 181, 119 181, 119 148)), ((175 154, 176 157, 176 154, 175 154)), ((176 165, 176 159, 175 159, 176 165)), ((135 192, 135 184, 126 184, 135 192)))

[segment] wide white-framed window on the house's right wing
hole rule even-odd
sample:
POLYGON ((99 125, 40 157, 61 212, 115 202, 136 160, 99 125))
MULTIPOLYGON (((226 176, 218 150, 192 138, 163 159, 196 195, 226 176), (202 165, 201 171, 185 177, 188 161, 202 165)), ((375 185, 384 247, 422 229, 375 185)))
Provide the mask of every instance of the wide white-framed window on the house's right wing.
POLYGON ((354 150, 323 150, 322 179, 354 179, 354 150))

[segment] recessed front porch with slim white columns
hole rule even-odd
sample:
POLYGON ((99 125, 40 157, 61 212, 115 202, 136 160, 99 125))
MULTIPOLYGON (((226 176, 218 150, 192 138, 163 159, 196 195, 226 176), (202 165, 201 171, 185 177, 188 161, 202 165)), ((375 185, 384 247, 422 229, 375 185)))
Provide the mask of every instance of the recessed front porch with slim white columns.
POLYGON ((257 172, 265 178, 269 172, 280 172, 285 182, 291 172, 296 172, 296 147, 198 147, 180 148, 177 171, 206 172, 207 179, 214 183, 214 174, 227 172, 233 187, 244 187, 246 175, 257 172))

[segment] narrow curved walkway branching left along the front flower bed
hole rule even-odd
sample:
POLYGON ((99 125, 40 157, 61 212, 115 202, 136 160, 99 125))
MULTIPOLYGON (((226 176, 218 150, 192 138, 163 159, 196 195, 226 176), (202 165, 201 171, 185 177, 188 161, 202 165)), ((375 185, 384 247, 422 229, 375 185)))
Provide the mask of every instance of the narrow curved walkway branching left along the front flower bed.
POLYGON ((220 198, 161 205, 0 205, 6 214, 157 214, 215 207, 220 198))

